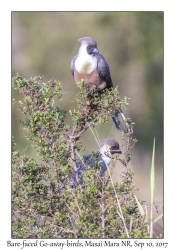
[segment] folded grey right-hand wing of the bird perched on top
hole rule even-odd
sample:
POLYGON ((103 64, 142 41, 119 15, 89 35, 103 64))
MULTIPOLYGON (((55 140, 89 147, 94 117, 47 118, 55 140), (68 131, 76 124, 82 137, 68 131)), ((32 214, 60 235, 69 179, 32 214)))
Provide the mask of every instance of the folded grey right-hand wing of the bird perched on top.
POLYGON ((100 78, 102 78, 106 82, 107 88, 112 88, 113 82, 111 79, 111 74, 107 62, 105 61, 104 57, 101 54, 96 54, 96 58, 97 58, 97 70, 100 78))

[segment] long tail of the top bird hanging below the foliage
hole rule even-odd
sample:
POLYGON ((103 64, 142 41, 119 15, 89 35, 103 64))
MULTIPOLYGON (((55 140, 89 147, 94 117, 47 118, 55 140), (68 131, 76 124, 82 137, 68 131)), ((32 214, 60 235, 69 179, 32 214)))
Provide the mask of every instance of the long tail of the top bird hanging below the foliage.
POLYGON ((112 117, 115 127, 124 133, 133 133, 131 125, 126 122, 126 117, 124 116, 121 109, 116 109, 114 111, 114 116, 112 117))

